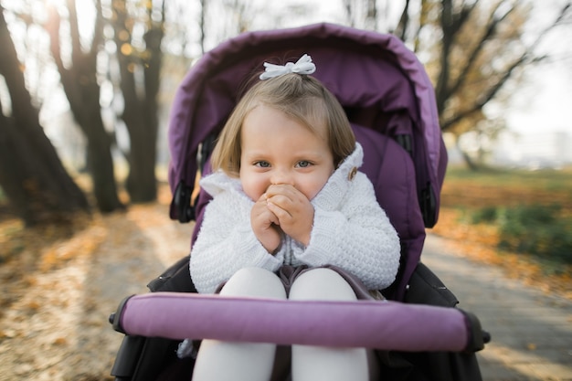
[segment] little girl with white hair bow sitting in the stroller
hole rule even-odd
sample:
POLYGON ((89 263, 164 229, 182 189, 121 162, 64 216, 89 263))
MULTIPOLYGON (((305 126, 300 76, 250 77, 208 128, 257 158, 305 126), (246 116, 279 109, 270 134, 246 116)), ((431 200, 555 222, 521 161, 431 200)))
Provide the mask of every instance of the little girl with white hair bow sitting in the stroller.
MULTIPOLYGON (((396 277, 399 239, 363 151, 304 55, 266 71, 238 102, 201 186, 213 196, 191 251, 196 290, 291 300, 365 299, 396 277)), ((193 379, 269 380, 274 344, 204 340, 193 379)), ((367 380, 364 348, 292 345, 291 376, 367 380)))

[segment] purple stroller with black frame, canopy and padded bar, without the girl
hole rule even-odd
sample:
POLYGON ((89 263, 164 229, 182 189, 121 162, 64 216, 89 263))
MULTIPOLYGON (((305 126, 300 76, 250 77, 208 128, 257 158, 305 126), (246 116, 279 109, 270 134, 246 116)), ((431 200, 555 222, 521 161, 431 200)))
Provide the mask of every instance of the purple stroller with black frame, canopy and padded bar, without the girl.
POLYGON ((244 80, 263 61, 295 61, 304 53, 318 68, 313 76, 343 105, 364 148, 361 170, 401 239, 397 279, 383 290, 390 302, 198 295, 185 256, 149 284, 153 293, 126 298, 111 315, 114 328, 126 333, 111 372, 118 380, 190 379, 193 360, 174 355, 185 337, 376 348, 387 379, 481 380, 474 352, 488 334, 471 313, 451 308, 454 295, 420 262, 425 228, 438 218, 447 154, 429 78, 397 37, 319 24, 246 33, 208 52, 175 96, 170 216, 196 219, 196 238, 209 201, 202 191, 192 199, 196 174, 209 172, 213 142, 244 80))

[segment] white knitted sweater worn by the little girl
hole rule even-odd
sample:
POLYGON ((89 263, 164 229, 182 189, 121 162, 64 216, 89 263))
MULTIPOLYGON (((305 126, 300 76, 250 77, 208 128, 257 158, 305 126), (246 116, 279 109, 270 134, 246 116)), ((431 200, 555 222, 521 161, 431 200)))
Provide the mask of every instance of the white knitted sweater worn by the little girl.
POLYGON ((309 245, 304 247, 285 236, 275 255, 264 249, 250 228, 254 202, 242 191, 239 179, 222 172, 202 179, 201 186, 213 200, 191 250, 190 271, 196 290, 214 292, 245 267, 276 271, 283 264, 335 265, 353 273, 369 290, 389 286, 399 266, 399 239, 377 204, 371 182, 365 174, 355 174, 363 156, 357 143, 354 153, 311 200, 314 220, 309 245))

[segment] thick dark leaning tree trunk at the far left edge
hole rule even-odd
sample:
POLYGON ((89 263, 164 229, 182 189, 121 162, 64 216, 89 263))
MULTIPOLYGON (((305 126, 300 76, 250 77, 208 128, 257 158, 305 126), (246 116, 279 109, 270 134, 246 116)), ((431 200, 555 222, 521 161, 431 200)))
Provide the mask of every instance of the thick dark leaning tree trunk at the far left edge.
POLYGON ((12 116, 0 112, 0 185, 26 226, 62 222, 89 211, 85 195, 64 169, 39 124, 14 43, 0 6, 0 74, 12 101, 12 116))

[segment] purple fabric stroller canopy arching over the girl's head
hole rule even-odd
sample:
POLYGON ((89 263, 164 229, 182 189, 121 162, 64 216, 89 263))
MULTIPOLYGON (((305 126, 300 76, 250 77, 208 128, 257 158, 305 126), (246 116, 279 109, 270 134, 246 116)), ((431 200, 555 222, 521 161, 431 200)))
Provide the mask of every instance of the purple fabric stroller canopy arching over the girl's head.
MULTIPOLYGON (((331 24, 245 33, 196 62, 175 94, 170 117, 173 194, 181 183, 192 191, 199 144, 223 127, 245 80, 263 61, 295 61, 304 53, 317 66, 313 76, 334 93, 351 122, 394 138, 412 137, 418 200, 425 226, 432 227, 447 155, 425 69, 397 37, 331 24)), ((170 215, 183 220, 175 201, 170 215)))

